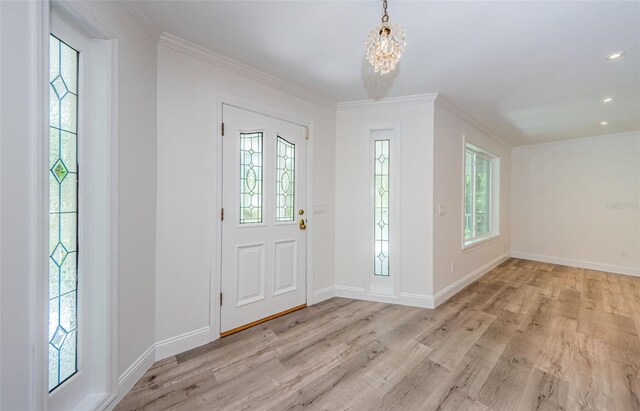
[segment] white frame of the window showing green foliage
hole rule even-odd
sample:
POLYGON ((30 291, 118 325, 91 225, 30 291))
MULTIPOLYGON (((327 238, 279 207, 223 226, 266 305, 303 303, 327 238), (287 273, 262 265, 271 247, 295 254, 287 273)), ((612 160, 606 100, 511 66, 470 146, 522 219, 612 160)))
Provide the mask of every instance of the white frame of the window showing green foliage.
POLYGON ((461 244, 463 251, 469 251, 475 248, 478 248, 482 245, 485 245, 492 240, 495 240, 500 236, 500 159, 498 156, 490 153, 489 151, 475 145, 469 143, 468 140, 463 138, 463 146, 462 146, 462 230, 461 230, 461 244), (473 163, 473 171, 471 178, 471 186, 472 186, 472 211, 471 211, 471 219, 472 219, 472 235, 471 238, 465 237, 465 228, 466 228, 466 175, 467 175, 467 153, 471 152, 474 154, 474 163, 473 163), (486 233, 482 233, 477 235, 475 233, 476 229, 476 213, 475 213, 475 197, 476 197, 476 162, 475 158, 481 158, 485 161, 489 162, 489 187, 488 187, 488 201, 489 201, 489 211, 487 213, 487 218, 489 218, 489 230, 486 233))

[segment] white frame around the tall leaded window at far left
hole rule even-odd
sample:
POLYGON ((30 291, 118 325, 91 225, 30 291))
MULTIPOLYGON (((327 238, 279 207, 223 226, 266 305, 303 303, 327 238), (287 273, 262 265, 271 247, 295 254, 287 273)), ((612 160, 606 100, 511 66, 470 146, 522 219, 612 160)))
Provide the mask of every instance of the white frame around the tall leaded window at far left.
POLYGON ((54 35, 79 52, 78 89, 82 103, 77 112, 78 179, 78 300, 77 371, 49 392, 48 381, 48 285, 49 256, 49 167, 39 165, 40 222, 38 244, 38 335, 36 408, 70 409, 106 407, 117 396, 117 267, 118 267, 118 77, 119 41, 108 27, 85 18, 85 10, 74 4, 42 6, 46 17, 40 38, 42 64, 39 95, 41 135, 39 164, 49 157, 49 39, 54 35), (80 136, 91 136, 82 138, 80 136), (83 164, 90 164, 84 167, 83 164), (91 275, 85 275, 91 272, 91 275), (91 326, 85 326, 86 324, 91 326), (86 347, 92 341, 91 355, 86 347), (96 402, 96 399, 98 399, 96 402))

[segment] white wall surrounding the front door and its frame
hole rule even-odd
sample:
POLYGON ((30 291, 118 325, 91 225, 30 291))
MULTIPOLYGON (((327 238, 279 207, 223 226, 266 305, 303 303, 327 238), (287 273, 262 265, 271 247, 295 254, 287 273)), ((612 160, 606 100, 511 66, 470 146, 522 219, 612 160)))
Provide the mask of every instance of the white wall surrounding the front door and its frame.
MULTIPOLYGON (((186 45, 175 38, 171 39, 186 45)), ((162 40, 161 40, 162 43, 162 40)), ((210 55, 197 48, 199 55, 210 55)), ((158 202, 156 340, 169 345, 159 357, 209 341, 213 220, 220 215, 217 138, 223 96, 311 121, 314 202, 328 212, 310 215, 315 291, 334 284, 335 108, 313 103, 201 58, 158 46, 158 202), (183 340, 176 337, 189 337, 183 340), (171 344, 175 342, 172 347, 171 344)), ((311 205, 309 206, 311 209, 311 205)), ((330 297, 331 295, 324 295, 330 297)), ((309 301, 312 303, 313 301, 309 301)))

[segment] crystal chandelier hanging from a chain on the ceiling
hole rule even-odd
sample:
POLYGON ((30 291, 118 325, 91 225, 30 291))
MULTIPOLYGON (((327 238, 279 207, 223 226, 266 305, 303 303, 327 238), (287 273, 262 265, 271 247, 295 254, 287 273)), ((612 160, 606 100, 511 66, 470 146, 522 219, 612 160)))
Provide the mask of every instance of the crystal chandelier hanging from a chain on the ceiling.
POLYGON ((367 60, 373 66, 373 71, 380 75, 396 68, 407 46, 404 27, 389 23, 387 0, 383 0, 382 10, 382 23, 369 33, 366 43, 367 60))

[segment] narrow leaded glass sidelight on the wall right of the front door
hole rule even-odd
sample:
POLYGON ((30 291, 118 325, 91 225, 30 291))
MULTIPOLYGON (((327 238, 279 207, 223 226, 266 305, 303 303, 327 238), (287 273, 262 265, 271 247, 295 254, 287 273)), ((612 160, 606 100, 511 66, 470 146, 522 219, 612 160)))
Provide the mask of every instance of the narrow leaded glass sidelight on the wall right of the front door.
POLYGON ((374 256, 373 273, 389 276, 389 161, 390 141, 374 141, 374 256))

